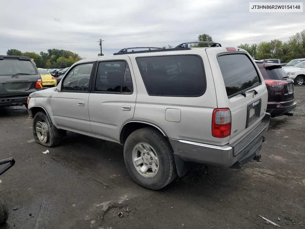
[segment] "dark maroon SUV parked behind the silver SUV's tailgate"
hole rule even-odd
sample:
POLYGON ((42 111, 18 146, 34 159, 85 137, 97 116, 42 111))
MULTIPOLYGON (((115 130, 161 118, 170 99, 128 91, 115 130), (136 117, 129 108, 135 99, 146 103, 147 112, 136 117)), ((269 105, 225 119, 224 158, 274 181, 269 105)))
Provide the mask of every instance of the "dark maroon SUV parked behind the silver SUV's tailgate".
POLYGON ((275 64, 266 61, 255 61, 262 73, 268 90, 267 111, 271 117, 280 115, 292 116, 296 108, 294 101, 293 80, 286 75, 282 64, 275 64))

